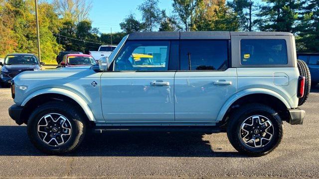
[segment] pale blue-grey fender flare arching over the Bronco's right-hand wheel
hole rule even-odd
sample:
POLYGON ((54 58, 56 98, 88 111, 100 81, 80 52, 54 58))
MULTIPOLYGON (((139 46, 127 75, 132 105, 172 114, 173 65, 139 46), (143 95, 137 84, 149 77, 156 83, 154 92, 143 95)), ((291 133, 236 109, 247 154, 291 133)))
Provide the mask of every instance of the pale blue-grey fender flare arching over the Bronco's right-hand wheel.
POLYGON ((254 88, 254 89, 245 89, 242 91, 237 92, 236 94, 232 95, 223 105, 223 107, 220 109, 216 121, 221 121, 226 114, 228 108, 239 98, 249 95, 249 94, 257 94, 257 93, 262 93, 262 94, 269 94, 274 97, 277 97, 280 99, 288 109, 291 108, 289 102, 287 99, 285 99, 282 95, 279 93, 270 90, 270 89, 261 89, 261 88, 254 88))

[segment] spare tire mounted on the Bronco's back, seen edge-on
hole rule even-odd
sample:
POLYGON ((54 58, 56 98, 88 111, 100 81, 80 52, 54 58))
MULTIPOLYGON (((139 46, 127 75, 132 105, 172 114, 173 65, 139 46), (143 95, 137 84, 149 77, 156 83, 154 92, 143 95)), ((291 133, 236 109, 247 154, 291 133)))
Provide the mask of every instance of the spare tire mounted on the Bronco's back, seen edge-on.
POLYGON ((305 94, 303 97, 299 98, 299 101, 298 101, 298 106, 301 106, 308 99, 308 96, 310 93, 310 88, 311 88, 311 76, 310 76, 310 71, 309 71, 309 68, 308 68, 306 62, 304 62, 302 60, 297 60, 297 65, 298 65, 299 74, 306 78, 305 94))

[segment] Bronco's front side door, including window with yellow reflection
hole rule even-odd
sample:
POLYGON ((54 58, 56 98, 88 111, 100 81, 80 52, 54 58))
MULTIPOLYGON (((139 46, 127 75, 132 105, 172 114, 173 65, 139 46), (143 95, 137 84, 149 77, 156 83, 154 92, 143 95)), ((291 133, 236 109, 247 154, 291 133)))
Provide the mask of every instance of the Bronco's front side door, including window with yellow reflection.
POLYGON ((168 71, 169 41, 127 41, 114 69, 101 76, 107 122, 172 122, 174 75, 168 71))

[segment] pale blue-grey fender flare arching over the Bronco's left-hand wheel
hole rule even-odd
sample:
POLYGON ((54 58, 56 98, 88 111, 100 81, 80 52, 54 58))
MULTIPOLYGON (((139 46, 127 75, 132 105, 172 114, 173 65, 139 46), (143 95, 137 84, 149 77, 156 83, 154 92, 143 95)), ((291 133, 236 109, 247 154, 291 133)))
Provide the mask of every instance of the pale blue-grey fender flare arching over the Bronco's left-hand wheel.
POLYGON ((67 89, 59 89, 59 88, 48 88, 48 89, 39 89, 37 91, 32 92, 29 94, 21 103, 21 106, 24 106, 30 99, 33 97, 40 95, 40 94, 45 94, 45 93, 55 93, 55 94, 61 94, 70 97, 74 101, 76 101, 84 110, 85 114, 88 116, 90 121, 95 121, 94 115, 92 113, 92 110, 90 109, 89 105, 87 102, 78 94, 75 92, 72 92, 67 89))

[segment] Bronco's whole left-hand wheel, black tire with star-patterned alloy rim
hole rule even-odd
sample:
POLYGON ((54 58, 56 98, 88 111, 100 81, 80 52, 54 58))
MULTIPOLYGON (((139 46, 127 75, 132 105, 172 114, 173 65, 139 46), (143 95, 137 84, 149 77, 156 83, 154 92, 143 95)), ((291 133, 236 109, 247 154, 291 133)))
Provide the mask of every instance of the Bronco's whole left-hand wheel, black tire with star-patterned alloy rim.
POLYGON ((31 113, 27 132, 38 150, 57 155, 74 151, 84 139, 86 126, 86 117, 74 105, 52 101, 31 113))

